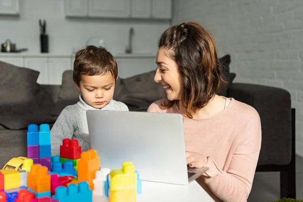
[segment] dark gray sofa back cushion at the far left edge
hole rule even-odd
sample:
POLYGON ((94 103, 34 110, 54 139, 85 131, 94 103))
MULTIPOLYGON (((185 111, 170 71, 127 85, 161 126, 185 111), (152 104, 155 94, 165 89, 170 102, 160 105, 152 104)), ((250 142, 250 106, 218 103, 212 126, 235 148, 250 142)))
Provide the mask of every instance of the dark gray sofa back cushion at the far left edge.
POLYGON ((39 72, 0 62, 0 125, 23 129, 31 123, 51 123, 51 96, 37 84, 39 72))

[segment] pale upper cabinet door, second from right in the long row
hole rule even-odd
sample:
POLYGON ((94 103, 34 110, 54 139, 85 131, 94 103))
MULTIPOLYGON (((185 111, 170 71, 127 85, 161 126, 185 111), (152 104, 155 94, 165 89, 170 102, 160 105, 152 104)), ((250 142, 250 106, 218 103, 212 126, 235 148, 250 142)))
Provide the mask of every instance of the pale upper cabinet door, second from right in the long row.
POLYGON ((150 18, 151 0, 131 0, 131 17, 150 18))

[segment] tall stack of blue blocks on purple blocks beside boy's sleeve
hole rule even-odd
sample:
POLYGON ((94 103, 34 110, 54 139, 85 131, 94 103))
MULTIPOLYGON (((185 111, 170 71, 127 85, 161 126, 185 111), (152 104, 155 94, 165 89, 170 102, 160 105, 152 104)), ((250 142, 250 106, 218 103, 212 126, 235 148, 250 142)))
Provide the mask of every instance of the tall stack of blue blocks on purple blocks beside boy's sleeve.
POLYGON ((48 124, 30 124, 27 130, 27 158, 51 170, 51 131, 48 124))

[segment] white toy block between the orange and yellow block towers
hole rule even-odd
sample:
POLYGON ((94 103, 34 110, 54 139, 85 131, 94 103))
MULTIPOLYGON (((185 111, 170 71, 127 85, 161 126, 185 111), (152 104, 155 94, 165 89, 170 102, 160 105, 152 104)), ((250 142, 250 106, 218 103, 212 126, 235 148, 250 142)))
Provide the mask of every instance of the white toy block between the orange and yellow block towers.
POLYGON ((106 186, 106 178, 110 173, 109 168, 103 168, 95 173, 95 179, 92 180, 93 183, 93 191, 92 195, 106 195, 105 194, 105 186, 106 186))

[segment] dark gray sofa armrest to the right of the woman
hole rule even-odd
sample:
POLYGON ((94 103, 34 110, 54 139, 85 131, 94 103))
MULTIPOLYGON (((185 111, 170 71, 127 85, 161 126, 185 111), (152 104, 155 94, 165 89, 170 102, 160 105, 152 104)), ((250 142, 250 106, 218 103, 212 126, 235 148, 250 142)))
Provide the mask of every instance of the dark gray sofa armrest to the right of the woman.
POLYGON ((254 107, 261 119, 262 145, 258 166, 287 165, 291 160, 291 99, 287 90, 232 83, 228 96, 254 107))

